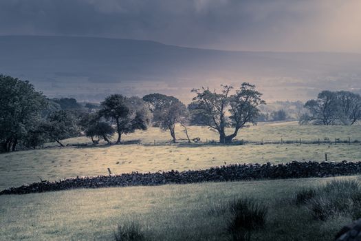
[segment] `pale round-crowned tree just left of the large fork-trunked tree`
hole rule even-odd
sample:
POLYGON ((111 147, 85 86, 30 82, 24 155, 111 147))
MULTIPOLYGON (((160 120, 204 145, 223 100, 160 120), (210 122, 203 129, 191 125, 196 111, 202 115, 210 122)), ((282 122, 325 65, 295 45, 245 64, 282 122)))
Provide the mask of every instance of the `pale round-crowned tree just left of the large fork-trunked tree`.
MULTIPOLYGON (((175 143, 177 141, 175 124, 181 124, 186 132, 186 105, 174 96, 157 93, 147 94, 143 97, 143 100, 148 103, 148 107, 153 113, 153 124, 163 130, 169 130, 172 142, 175 143)), ((186 132, 186 135, 188 137, 188 132, 186 132)))

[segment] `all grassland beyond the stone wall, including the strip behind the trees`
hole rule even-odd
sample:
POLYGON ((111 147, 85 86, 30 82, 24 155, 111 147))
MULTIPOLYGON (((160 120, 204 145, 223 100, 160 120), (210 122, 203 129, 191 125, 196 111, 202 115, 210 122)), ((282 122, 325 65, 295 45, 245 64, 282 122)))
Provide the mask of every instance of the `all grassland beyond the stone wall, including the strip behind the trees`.
MULTIPOLYGON (((237 138, 245 140, 283 140, 302 138, 350 138, 361 140, 360 126, 314 127, 294 123, 259 125, 243 129, 237 138)), ((179 128, 178 128, 179 129, 179 128)), ((217 134, 204 127, 190 127, 191 136, 201 140, 217 138, 217 134)), ((184 138, 182 132, 178 132, 184 138)), ((111 145, 99 147, 65 147, 36 149, 0 155, 0 189, 23 183, 58 180, 75 176, 106 175, 107 167, 113 174, 131 171, 159 171, 177 169, 204 169, 231 163, 287 163, 292 160, 325 159, 361 160, 361 144, 337 145, 158 145, 167 140, 168 133, 151 128, 124 136, 124 140, 140 139, 145 145, 111 145), (153 141, 157 146, 153 146, 153 141)), ((72 138, 65 143, 86 143, 87 138, 72 138)), ((163 143, 164 144, 164 143, 163 143)))

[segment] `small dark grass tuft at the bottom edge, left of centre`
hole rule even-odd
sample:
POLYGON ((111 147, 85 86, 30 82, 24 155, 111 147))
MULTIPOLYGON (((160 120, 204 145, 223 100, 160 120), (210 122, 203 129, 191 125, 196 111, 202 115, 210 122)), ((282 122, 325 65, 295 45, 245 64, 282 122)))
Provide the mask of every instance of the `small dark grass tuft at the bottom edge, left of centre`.
POLYGON ((136 222, 130 222, 118 226, 114 234, 116 241, 142 241, 146 240, 140 225, 136 222))

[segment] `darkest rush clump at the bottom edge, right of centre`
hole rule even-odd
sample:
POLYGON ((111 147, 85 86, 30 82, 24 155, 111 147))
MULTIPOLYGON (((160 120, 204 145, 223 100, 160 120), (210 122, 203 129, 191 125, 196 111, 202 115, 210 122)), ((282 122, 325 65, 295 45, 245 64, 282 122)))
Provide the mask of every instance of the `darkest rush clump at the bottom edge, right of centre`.
POLYGON ((227 231, 232 240, 250 240, 252 231, 265 226, 267 207, 255 200, 241 198, 229 203, 232 218, 228 223, 227 231))

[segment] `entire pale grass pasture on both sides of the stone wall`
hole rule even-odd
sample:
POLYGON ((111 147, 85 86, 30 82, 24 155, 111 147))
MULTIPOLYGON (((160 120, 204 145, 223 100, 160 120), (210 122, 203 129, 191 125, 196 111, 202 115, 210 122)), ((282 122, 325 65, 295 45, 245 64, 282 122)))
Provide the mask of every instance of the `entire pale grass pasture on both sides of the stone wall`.
MULTIPOLYGON (((252 142, 287 140, 361 140, 360 126, 315 127, 273 123, 243 129, 238 140, 252 142)), ((204 127, 190 127, 190 138, 217 140, 204 127)), ((361 160, 360 143, 169 145, 168 132, 150 128, 124 136, 140 144, 16 151, 0 155, 0 189, 23 183, 75 176, 107 175, 131 171, 204 169, 232 163, 287 163, 292 160, 361 160), (154 146, 154 140, 157 145, 154 146)), ((88 138, 64 140, 65 144, 90 143, 88 138)), ((353 179, 357 179, 352 177, 353 179)), ((268 207, 265 229, 255 240, 333 240, 342 225, 353 217, 335 213, 315 220, 311 211, 291 202, 295 191, 322 186, 333 179, 260 180, 252 182, 201 183, 160 187, 76 189, 27 195, 0 196, 0 240, 113 240, 118 224, 139 222, 151 240, 229 240, 229 213, 212 210, 233 198, 254 198, 268 207)))

